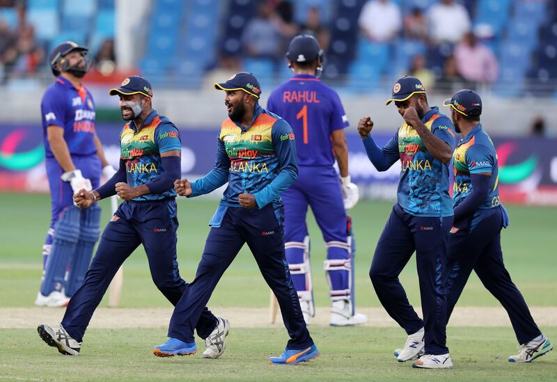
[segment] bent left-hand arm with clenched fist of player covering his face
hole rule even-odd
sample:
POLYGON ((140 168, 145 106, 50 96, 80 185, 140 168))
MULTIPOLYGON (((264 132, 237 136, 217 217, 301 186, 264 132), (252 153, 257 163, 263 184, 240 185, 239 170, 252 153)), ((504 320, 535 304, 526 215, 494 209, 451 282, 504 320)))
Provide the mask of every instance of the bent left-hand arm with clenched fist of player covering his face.
POLYGON ((366 148, 366 154, 377 171, 386 171, 395 164, 400 158, 398 154, 398 131, 395 132, 393 138, 380 148, 371 136, 373 129, 373 121, 370 117, 363 117, 358 122, 358 133, 360 134, 363 147, 366 148))

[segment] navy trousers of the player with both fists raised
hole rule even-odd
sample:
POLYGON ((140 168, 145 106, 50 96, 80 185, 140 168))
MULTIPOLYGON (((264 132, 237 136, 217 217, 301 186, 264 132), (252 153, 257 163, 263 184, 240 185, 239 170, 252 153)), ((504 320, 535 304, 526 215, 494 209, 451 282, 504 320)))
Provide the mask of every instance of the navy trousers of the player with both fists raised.
POLYGON ((444 268, 448 233, 453 216, 420 217, 393 207, 379 237, 370 268, 370 278, 383 307, 407 334, 424 328, 425 352, 448 353, 446 347, 446 295, 444 268), (406 296, 398 275, 416 251, 423 320, 406 296))

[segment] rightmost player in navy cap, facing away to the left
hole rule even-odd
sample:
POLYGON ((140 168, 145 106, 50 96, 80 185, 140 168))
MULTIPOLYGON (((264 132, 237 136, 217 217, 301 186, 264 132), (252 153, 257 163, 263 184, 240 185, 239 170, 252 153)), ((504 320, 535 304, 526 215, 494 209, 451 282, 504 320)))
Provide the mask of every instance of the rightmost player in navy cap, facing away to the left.
POLYGON ((472 270, 509 315, 519 353, 509 362, 531 362, 553 349, 503 264, 501 228, 509 218, 499 199, 499 166, 491 138, 480 123, 482 100, 464 89, 444 102, 462 134, 453 154, 455 220, 448 239, 447 319, 472 270))

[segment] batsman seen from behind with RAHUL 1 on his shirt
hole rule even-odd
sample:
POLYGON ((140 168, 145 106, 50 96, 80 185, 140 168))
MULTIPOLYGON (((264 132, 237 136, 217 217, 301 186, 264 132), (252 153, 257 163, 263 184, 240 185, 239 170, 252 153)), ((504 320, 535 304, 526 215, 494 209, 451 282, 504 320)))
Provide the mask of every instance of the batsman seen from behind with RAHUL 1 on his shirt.
POLYGON ((296 136, 298 179, 283 193, 284 241, 292 281, 304 320, 309 324, 315 316, 306 225, 310 206, 327 246, 324 269, 331 288, 330 324, 363 324, 368 318, 354 313, 355 245, 345 210, 358 200, 358 188, 350 182, 348 173, 344 133, 348 119, 338 94, 317 78, 324 54, 313 35, 292 39, 286 58, 295 75, 271 93, 267 110, 284 118, 296 136), (334 168, 335 158, 340 180, 334 168))

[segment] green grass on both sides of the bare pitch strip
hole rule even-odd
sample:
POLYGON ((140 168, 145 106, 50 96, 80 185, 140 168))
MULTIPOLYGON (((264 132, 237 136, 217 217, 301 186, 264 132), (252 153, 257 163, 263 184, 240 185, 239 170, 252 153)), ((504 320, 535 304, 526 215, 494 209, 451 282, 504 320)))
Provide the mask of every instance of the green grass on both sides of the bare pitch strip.
MULTIPOLYGON (((109 203, 102 201, 103 225, 109 220, 109 203)), ((180 200, 178 260, 182 277, 193 278, 208 232, 214 200, 180 200)), ((389 202, 361 202, 351 212, 356 234, 356 295, 361 306, 379 306, 368 278, 375 244, 389 216, 389 202)), ((554 214, 557 209, 508 207, 512 225, 503 232, 505 264, 530 305, 557 306, 554 259, 554 214)), ((49 221, 48 196, 0 194, 0 308, 29 307, 39 287, 40 248, 49 221)), ((310 215, 311 216, 311 215, 310 215)), ((328 286, 322 271, 325 249, 313 217, 313 278, 317 305, 327 306, 328 286)), ((122 305, 168 307, 150 280, 142 248, 125 262, 122 305)), ((409 300, 419 305, 414 258, 400 279, 409 300)), ((269 294, 256 262, 245 248, 221 279, 210 307, 266 307, 269 294)), ((103 304, 106 304, 104 302, 103 304)), ((461 306, 497 306, 499 303, 472 276, 460 299, 461 306)), ((40 322, 40 317, 37 317, 40 322)), ((51 323, 51 324, 54 324, 51 323)), ((233 324, 234 325, 234 324, 233 324)), ((554 380, 556 351, 528 365, 506 361, 516 353, 515 335, 503 328, 448 327, 452 370, 412 369, 392 356, 405 335, 400 328, 311 327, 322 351, 315 361, 299 367, 272 367, 267 358, 281 353, 288 340, 282 326, 233 328, 227 350, 218 360, 201 356, 156 358, 150 348, 163 342, 162 328, 91 329, 79 357, 63 357, 47 347, 31 329, 0 330, 0 381, 519 381, 554 380)), ((557 339, 557 327, 542 328, 557 339)), ((203 344, 198 340, 203 349, 203 344)))

